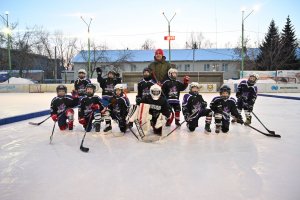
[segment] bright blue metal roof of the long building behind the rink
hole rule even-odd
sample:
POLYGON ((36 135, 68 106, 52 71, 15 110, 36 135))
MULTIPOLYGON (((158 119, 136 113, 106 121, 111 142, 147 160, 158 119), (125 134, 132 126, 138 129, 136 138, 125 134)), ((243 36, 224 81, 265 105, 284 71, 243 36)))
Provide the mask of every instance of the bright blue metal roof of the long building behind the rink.
MULTIPOLYGON (((258 53, 258 49, 253 49, 254 53, 258 53)), ((154 60, 154 50, 98 50, 96 56, 91 51, 91 62, 93 58, 98 58, 98 62, 114 62, 124 55, 129 55, 127 61, 130 62, 151 62, 154 60), (99 59, 99 58, 102 59, 99 59)), ((83 50, 78 53, 73 59, 73 63, 86 62, 88 51, 83 50)), ((169 58, 169 51, 164 50, 166 59, 169 58)), ((300 49, 298 48, 297 57, 300 58, 300 49)), ((172 49, 172 61, 193 61, 193 49, 172 49)), ((234 49, 195 49, 195 61, 235 61, 240 60, 240 57, 234 52, 234 49)))

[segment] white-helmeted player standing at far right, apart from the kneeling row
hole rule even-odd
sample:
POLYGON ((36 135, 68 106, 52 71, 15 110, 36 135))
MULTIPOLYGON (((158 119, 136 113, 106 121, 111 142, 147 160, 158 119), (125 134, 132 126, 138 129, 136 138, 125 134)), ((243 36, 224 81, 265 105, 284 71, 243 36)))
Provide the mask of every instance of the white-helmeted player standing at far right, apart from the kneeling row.
MULTIPOLYGON (((258 74, 253 73, 249 76, 247 81, 241 81, 237 88, 237 109, 240 114, 244 109, 246 116, 246 125, 251 124, 251 112, 253 111, 253 106, 257 97, 257 87, 255 86, 255 83, 258 78, 258 74)), ((233 117, 231 122, 236 122, 236 118, 233 117)))

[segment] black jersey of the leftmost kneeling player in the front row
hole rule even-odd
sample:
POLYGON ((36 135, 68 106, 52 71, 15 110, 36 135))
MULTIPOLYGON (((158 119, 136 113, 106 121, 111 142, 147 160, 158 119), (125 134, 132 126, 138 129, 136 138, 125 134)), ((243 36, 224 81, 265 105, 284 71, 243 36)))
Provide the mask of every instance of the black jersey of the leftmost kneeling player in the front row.
POLYGON ((65 95, 63 97, 54 97, 50 105, 51 115, 60 114, 68 108, 73 108, 77 106, 78 101, 78 98, 73 98, 70 95, 65 95))

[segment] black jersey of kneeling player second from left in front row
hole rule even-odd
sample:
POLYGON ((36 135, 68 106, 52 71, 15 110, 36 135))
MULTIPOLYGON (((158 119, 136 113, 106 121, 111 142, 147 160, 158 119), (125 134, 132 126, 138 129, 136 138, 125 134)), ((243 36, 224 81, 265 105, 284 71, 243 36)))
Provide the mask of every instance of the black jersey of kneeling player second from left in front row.
POLYGON ((93 110, 91 108, 92 104, 98 104, 100 106, 100 111, 103 110, 103 105, 99 96, 94 95, 92 97, 84 96, 78 107, 78 117, 87 117, 93 110))

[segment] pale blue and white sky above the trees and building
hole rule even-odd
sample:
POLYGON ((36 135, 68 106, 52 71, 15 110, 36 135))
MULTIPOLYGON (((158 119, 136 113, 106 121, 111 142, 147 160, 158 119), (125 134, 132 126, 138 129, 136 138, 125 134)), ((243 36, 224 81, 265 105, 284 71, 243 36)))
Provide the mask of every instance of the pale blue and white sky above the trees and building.
POLYGON ((169 20, 176 13, 170 23, 172 48, 184 48, 191 33, 202 33, 212 48, 234 48, 241 37, 242 9, 246 16, 255 8, 244 27, 251 47, 257 47, 271 20, 281 31, 288 15, 300 39, 299 7, 298 0, 0 0, 0 15, 9 12, 9 21, 18 23, 15 32, 37 25, 85 41, 83 16, 87 22, 92 18, 91 39, 109 49, 140 49, 147 39, 155 48, 167 49, 168 22, 162 12, 169 20))

